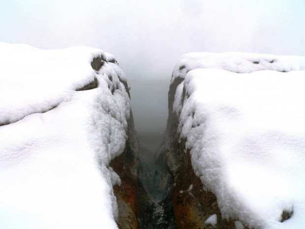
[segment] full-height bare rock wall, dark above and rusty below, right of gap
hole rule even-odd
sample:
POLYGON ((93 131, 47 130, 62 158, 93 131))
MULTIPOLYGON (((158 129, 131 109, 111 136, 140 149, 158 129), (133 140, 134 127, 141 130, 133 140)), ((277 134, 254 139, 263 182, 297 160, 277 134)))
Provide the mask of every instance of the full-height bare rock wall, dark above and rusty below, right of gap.
POLYGON ((185 140, 179 143, 177 133, 179 117, 173 112, 173 103, 177 86, 183 82, 177 77, 168 92, 169 117, 167 120, 166 141, 168 151, 167 163, 175 176, 172 190, 174 217, 177 229, 206 229, 205 221, 213 214, 217 215, 216 229, 235 229, 234 220, 222 220, 216 196, 206 192, 199 177, 191 165, 189 150, 184 153, 185 140))

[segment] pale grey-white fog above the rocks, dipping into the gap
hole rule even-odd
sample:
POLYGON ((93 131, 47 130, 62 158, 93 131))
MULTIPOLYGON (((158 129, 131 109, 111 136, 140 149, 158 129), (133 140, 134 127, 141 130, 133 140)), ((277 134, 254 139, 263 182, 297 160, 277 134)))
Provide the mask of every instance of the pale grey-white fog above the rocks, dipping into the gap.
POLYGON ((160 139, 171 71, 184 53, 305 56, 304 12, 304 0, 1 0, 0 41, 112 53, 132 88, 139 135, 160 139))

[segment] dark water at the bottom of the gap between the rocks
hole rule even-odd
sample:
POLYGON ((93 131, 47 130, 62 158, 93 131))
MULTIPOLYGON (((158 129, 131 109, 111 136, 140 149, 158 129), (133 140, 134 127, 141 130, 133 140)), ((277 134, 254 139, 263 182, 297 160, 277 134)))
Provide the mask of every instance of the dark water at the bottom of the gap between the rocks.
POLYGON ((140 229, 176 229, 172 207, 173 176, 166 164, 164 143, 151 153, 140 144, 140 229))

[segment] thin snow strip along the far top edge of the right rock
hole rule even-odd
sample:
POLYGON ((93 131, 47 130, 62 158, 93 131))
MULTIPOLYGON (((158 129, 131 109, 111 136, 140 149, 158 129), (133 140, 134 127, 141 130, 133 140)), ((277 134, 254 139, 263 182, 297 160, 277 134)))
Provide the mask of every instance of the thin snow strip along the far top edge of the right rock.
POLYGON ((196 68, 220 68, 236 73, 260 70, 292 71, 305 70, 305 57, 274 56, 256 53, 187 53, 182 56, 173 70, 173 83, 177 77, 185 78, 196 68))

